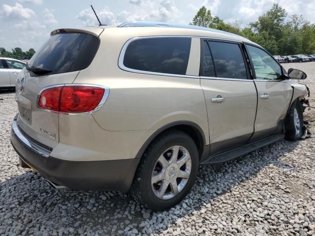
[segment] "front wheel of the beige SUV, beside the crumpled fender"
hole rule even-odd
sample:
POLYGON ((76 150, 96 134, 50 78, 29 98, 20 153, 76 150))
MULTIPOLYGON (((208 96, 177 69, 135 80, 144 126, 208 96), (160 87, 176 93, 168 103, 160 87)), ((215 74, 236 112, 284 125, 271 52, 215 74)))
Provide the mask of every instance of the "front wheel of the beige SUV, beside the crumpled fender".
POLYGON ((303 106, 297 99, 295 100, 284 120, 285 139, 296 141, 303 136, 303 106))

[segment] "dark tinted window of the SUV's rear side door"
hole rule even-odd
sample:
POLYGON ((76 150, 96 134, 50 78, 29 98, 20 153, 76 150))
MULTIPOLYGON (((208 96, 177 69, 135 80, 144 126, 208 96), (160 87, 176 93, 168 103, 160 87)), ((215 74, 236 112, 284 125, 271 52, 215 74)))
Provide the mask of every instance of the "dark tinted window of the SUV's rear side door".
POLYGON ((217 77, 248 79, 241 48, 235 43, 209 41, 217 77))

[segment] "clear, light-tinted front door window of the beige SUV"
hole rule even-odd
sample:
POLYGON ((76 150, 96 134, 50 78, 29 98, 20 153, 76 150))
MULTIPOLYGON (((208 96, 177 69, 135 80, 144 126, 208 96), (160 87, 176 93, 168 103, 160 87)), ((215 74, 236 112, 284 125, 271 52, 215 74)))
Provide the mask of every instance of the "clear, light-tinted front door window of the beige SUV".
POLYGON ((260 80, 280 80, 282 71, 280 65, 265 51, 247 46, 252 58, 256 78, 260 80))

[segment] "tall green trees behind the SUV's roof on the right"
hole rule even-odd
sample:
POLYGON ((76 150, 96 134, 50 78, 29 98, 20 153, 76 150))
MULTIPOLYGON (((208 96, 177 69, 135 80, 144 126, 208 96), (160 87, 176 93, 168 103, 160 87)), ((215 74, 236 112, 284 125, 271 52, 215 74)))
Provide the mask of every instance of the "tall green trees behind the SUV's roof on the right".
POLYGON ((257 21, 241 27, 241 22, 225 23, 202 6, 189 25, 220 29, 250 39, 273 55, 315 54, 315 24, 302 15, 288 14, 278 3, 259 16, 257 21))

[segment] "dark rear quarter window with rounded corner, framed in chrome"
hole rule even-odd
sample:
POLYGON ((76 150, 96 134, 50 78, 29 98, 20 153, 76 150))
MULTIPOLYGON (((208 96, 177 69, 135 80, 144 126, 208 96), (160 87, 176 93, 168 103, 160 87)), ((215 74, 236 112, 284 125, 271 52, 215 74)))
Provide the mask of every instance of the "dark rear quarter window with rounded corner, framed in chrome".
POLYGON ((189 37, 137 39, 128 45, 124 65, 141 71, 185 75, 190 44, 189 37))

